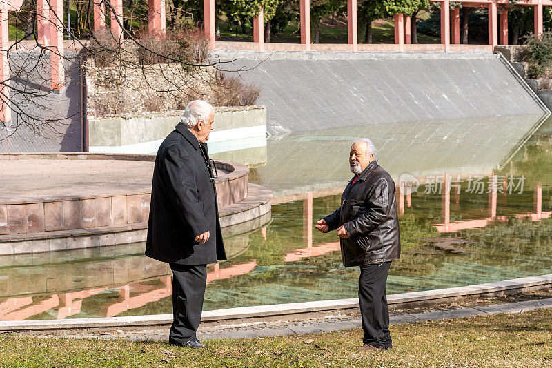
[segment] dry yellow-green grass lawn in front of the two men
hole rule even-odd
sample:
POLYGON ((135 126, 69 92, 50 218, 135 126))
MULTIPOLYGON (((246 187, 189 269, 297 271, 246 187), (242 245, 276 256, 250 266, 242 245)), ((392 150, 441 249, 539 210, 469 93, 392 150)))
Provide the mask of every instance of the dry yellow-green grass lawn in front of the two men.
POLYGON ((165 343, 0 335, 0 367, 552 367, 552 310, 391 328, 394 349, 359 351, 361 329, 165 343))

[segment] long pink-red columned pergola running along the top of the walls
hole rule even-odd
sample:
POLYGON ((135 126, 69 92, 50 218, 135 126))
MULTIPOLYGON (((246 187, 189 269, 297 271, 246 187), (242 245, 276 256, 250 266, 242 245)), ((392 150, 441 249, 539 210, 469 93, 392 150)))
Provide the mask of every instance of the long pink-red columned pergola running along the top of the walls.
MULTIPOLYGON (((204 0, 204 27, 210 39, 212 49, 230 50, 321 50, 321 51, 455 51, 466 50, 471 45, 460 45, 460 8, 450 10, 450 0, 432 0, 441 3, 441 43, 438 45, 411 45, 410 17, 395 14, 395 44, 366 45, 357 40, 357 0, 347 1, 348 43, 313 44, 311 43, 311 3, 310 0, 298 0, 301 21, 301 43, 264 43, 263 12, 260 10, 253 20, 253 42, 217 42, 215 39, 215 0, 204 0)), ((508 43, 509 0, 457 0, 464 7, 489 9, 489 45, 484 50, 492 50, 499 43, 508 43), (500 20, 498 9, 500 8, 500 20)), ((11 121, 9 103, 10 80, 8 52, 8 12, 17 12, 23 0, 0 0, 0 94, 3 97, 0 106, 0 121, 11 121)), ((535 34, 543 32, 543 6, 552 6, 552 0, 518 0, 516 6, 535 8, 535 34)), ((123 0, 94 0, 94 30, 106 28, 106 16, 110 17, 110 31, 113 37, 122 41, 123 0)), ((148 0, 148 32, 162 37, 165 32, 165 1, 148 0)), ((37 41, 50 50, 50 79, 53 90, 61 90, 65 83, 64 46, 63 46, 63 0, 37 0, 37 41)), ((472 48, 481 48, 481 45, 472 48)))

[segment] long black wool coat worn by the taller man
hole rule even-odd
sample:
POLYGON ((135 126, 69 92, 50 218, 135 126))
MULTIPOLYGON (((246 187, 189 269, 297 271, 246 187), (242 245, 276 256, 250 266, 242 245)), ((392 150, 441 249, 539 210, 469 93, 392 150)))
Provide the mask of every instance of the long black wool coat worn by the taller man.
POLYGON ((226 259, 215 182, 206 159, 207 148, 182 123, 161 143, 153 170, 146 256, 179 265, 226 259), (195 241, 207 231, 205 244, 195 241))

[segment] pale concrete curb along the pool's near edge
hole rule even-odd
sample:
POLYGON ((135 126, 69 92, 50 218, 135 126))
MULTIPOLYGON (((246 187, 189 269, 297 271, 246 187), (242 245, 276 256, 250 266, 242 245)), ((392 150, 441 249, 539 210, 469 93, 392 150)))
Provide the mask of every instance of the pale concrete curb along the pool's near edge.
MULTIPOLYGON (((453 301, 464 296, 493 294, 515 294, 535 289, 542 289, 552 285, 552 274, 514 278, 462 287, 446 289, 424 290, 422 292, 408 292, 388 296, 391 307, 412 306, 415 304, 427 305, 453 301)), ((201 322, 235 321, 259 318, 310 314, 324 311, 344 311, 359 307, 358 298, 320 300, 315 302, 287 303, 274 305, 257 305, 254 307, 238 307, 204 311, 201 322)), ((74 318, 66 320, 17 320, 0 321, 0 331, 32 331, 44 329, 83 329, 101 327, 130 327, 170 325, 172 314, 153 314, 147 316, 125 316, 108 318, 74 318)))

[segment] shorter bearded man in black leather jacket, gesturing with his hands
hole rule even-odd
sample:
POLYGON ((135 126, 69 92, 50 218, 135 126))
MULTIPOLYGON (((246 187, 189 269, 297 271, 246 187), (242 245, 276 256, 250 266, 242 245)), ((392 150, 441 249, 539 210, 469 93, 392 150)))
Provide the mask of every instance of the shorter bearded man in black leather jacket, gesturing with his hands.
POLYGON ((360 266, 359 302, 364 330, 362 349, 391 349, 385 285, 391 261, 400 256, 395 183, 377 165, 369 139, 351 146, 355 176, 341 197, 341 207, 318 221, 321 232, 337 229, 345 267, 360 266))

